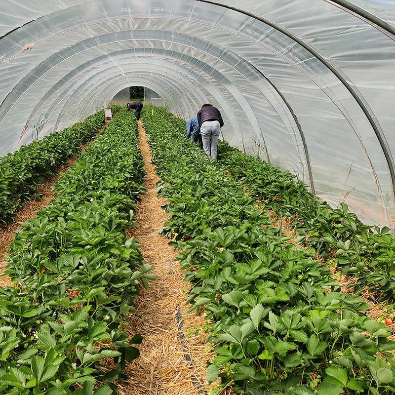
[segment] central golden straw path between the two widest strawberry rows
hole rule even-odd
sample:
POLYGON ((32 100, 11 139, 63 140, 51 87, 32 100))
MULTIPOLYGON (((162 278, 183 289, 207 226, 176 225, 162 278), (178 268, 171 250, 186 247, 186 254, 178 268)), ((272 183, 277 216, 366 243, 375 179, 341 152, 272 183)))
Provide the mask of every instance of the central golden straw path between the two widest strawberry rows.
POLYGON ((206 352, 204 334, 196 336, 204 318, 187 313, 185 301, 188 284, 179 263, 177 252, 167 237, 158 230, 168 216, 158 198, 159 180, 151 163, 151 151, 145 130, 139 122, 139 145, 146 168, 146 194, 141 197, 135 212, 139 228, 130 232, 142 244, 145 263, 153 266, 158 278, 150 282, 150 289, 142 290, 136 312, 129 322, 130 334, 141 333, 141 355, 127 367, 128 383, 120 384, 119 393, 125 395, 197 395, 205 394, 206 352), (191 336, 192 334, 192 336, 191 336))

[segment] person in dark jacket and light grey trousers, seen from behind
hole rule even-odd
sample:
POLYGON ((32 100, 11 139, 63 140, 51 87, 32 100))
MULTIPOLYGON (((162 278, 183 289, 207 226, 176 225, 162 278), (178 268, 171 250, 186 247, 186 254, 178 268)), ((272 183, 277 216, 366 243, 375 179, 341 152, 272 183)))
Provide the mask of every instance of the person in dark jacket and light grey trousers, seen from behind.
POLYGON ((220 111, 212 104, 203 104, 201 110, 197 113, 197 121, 200 126, 204 152, 217 160, 218 140, 221 127, 224 126, 220 111))

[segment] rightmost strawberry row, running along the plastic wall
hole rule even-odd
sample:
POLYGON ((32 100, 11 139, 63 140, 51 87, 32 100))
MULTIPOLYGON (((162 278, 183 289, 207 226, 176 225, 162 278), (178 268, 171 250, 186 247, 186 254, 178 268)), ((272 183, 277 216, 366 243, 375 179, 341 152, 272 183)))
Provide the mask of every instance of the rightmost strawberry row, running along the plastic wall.
POLYGON ((301 235, 299 241, 306 240, 323 258, 341 265, 343 273, 356 276, 354 287, 368 286, 378 297, 394 298, 395 237, 389 228, 366 226, 345 203, 332 209, 290 172, 247 156, 226 142, 220 144, 219 155, 220 162, 252 197, 289 218, 301 235))

